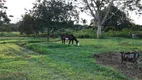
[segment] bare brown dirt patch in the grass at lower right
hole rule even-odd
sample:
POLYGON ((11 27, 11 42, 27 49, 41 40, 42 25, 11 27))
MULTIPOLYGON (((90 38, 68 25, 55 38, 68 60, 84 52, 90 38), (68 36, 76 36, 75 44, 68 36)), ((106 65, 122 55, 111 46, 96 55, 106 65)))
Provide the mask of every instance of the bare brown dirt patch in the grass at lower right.
POLYGON ((142 80, 142 56, 139 58, 138 63, 122 63, 118 52, 94 54, 93 58, 96 59, 98 64, 113 67, 130 78, 142 80))

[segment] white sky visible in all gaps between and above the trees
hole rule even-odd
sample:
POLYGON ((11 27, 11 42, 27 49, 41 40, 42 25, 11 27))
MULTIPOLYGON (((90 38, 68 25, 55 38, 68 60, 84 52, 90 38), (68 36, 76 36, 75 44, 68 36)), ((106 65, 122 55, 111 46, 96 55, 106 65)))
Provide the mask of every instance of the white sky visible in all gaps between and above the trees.
MULTIPOLYGON (((21 20, 21 15, 25 13, 25 8, 28 10, 31 9, 33 6, 32 3, 35 1, 36 0, 6 0, 5 5, 8 7, 7 14, 14 16, 11 18, 11 23, 15 23, 21 20)), ((88 24, 90 23, 90 16, 87 16, 86 14, 80 14, 80 17, 87 19, 88 24)), ((132 12, 131 18, 136 24, 142 25, 142 15, 136 16, 135 13, 132 12)))

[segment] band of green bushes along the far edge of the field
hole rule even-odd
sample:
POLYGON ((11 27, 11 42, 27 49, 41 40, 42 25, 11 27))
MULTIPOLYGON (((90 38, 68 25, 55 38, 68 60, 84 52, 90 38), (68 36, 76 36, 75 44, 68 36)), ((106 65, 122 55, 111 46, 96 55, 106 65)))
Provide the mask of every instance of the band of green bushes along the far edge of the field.
MULTIPOLYGON (((23 34, 19 33, 19 30, 21 29, 18 24, 11 24, 11 25, 7 25, 2 27, 0 30, 0 36, 32 36, 32 37, 47 37, 47 33, 44 32, 44 30, 40 31, 38 33, 38 35, 36 33, 30 33, 30 34, 26 34, 25 32, 23 32, 23 34), (9 32, 9 33, 5 33, 5 32, 9 32), (11 33, 12 32, 12 33, 11 33), (18 33, 13 33, 13 32, 18 32, 18 33)), ((56 23, 55 23, 56 24, 56 23)), ((66 28, 61 28, 61 29, 55 29, 53 31, 50 32, 49 37, 51 38, 57 38, 60 36, 60 34, 74 34, 76 37, 78 38, 97 38, 96 32, 97 29, 94 28, 93 26, 88 26, 88 25, 71 25, 69 27, 68 25, 64 25, 64 24, 60 24, 62 25, 62 27, 66 27, 66 28)), ((59 26, 59 24, 58 24, 59 26)), ((33 27, 33 26, 32 26, 33 27)), ((34 27, 33 27, 34 28, 34 27)), ((30 28, 27 27, 25 29, 25 31, 29 31, 31 32, 30 28), (26 30, 27 29, 27 30, 26 30)), ((44 28, 43 28, 44 29, 44 28)), ((141 25, 135 25, 135 24, 131 24, 130 26, 125 26, 121 29, 115 29, 115 27, 104 27, 103 28, 103 34, 101 38, 106 38, 106 37, 127 37, 130 38, 131 34, 140 34, 142 35, 142 26, 141 25)))

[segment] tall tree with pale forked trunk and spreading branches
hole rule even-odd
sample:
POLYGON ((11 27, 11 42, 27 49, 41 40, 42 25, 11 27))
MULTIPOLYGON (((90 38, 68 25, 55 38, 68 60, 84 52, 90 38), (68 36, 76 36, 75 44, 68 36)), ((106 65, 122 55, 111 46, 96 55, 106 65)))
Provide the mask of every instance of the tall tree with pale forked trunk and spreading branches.
POLYGON ((116 6, 124 11, 132 10, 140 12, 142 9, 141 0, 83 0, 83 2, 85 7, 81 9, 88 10, 91 16, 94 18, 94 21, 97 22, 98 38, 102 34, 103 24, 106 22, 106 20, 108 20, 108 18, 111 18, 109 13, 111 12, 112 6, 116 6), (103 13, 105 14, 102 15, 103 13))

